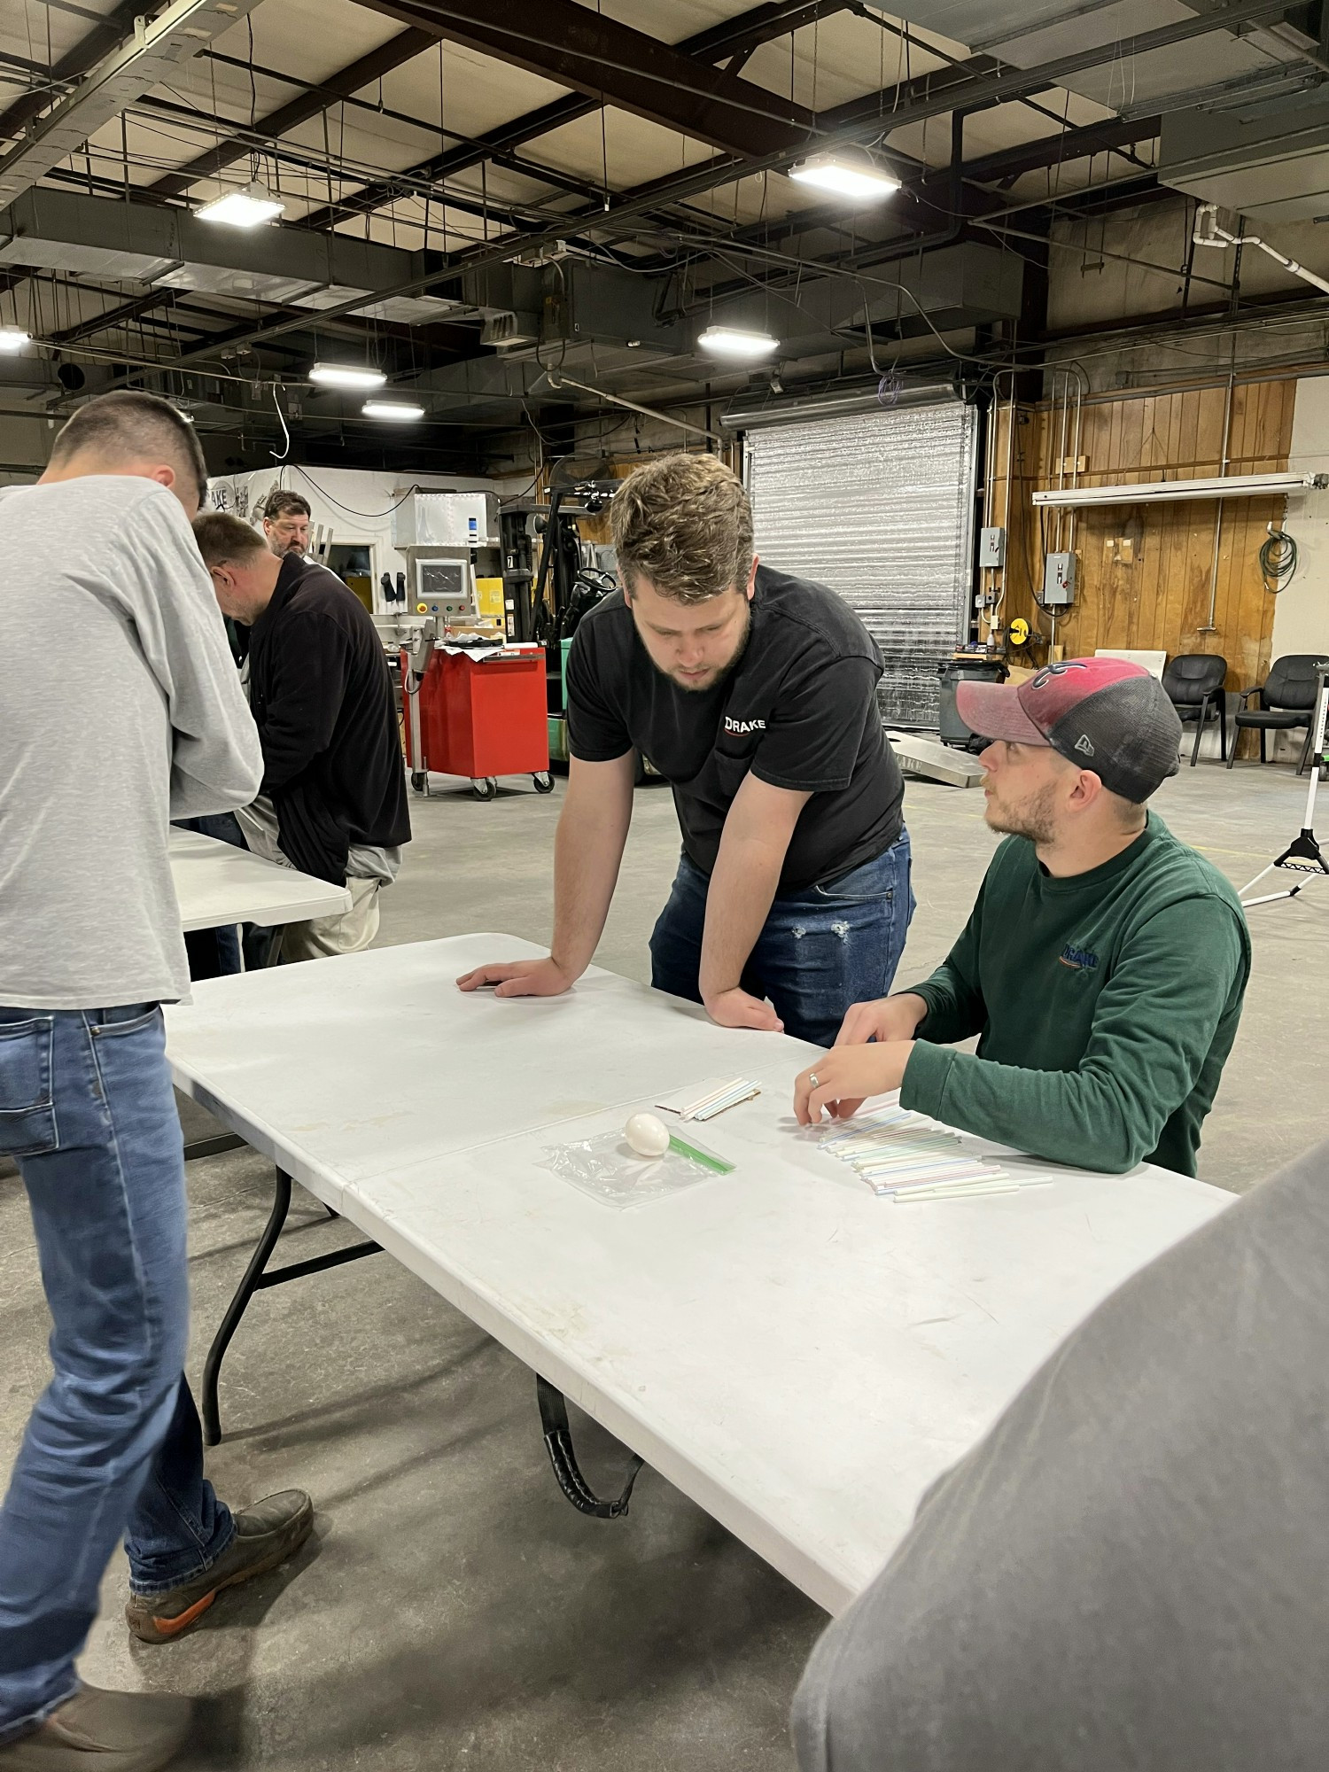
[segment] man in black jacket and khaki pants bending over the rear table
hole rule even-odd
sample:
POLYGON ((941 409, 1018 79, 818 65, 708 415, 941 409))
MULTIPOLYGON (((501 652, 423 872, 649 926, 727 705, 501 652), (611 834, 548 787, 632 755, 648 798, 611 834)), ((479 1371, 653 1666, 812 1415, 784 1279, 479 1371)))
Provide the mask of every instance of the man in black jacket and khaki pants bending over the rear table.
POLYGON ((275 556, 239 517, 193 525, 223 615, 250 627, 250 709, 262 787, 237 819, 255 854, 346 884, 351 909, 287 925, 282 953, 310 960, 367 948, 377 895, 411 840, 392 680, 360 599, 298 553, 275 556))

